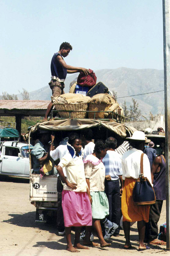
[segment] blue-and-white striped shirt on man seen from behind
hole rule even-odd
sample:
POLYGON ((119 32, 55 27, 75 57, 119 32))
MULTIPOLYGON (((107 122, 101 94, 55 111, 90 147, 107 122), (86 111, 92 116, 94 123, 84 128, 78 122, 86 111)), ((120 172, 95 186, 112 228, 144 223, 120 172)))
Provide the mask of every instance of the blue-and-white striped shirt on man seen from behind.
POLYGON ((115 151, 108 150, 102 161, 106 168, 105 175, 110 175, 112 181, 118 180, 119 175, 122 175, 121 156, 115 151))

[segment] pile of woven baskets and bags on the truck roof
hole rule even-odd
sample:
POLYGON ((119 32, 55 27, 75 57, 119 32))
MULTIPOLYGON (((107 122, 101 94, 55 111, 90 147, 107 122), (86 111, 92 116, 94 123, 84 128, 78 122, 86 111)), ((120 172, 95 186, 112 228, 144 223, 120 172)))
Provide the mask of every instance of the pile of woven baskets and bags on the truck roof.
POLYGON ((58 114, 61 117, 86 118, 88 110, 90 119, 116 118, 116 114, 123 116, 123 110, 112 92, 109 92, 103 82, 96 83, 95 73, 91 69, 89 71, 88 75, 80 73, 77 81, 71 83, 70 93, 60 95, 58 98, 51 97, 58 114), (75 112, 69 114, 64 110, 75 112))

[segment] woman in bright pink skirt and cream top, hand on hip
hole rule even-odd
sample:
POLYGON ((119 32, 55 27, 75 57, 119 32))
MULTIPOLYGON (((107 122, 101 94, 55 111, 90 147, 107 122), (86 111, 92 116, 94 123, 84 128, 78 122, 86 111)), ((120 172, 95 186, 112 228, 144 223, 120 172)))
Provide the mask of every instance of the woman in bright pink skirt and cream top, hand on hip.
MULTIPOLYGON (((67 250, 79 252, 77 249, 89 249, 80 245, 81 226, 92 226, 92 210, 90 204, 90 192, 84 173, 84 164, 81 156, 81 140, 72 135, 68 139, 65 154, 58 164, 57 171, 61 180, 65 183, 62 192, 62 208, 64 226, 67 238, 67 250), (65 167, 67 178, 64 177, 62 168, 65 167), (71 243, 71 226, 75 226, 74 246, 71 243)), ((90 240, 90 232, 87 232, 90 240)))

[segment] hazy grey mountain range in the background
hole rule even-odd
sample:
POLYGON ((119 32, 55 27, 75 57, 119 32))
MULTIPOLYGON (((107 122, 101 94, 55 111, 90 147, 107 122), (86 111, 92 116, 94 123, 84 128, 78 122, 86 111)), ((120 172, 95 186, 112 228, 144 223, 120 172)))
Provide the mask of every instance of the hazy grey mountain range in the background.
MULTIPOLYGON (((132 98, 137 100, 141 115, 149 116, 164 114, 164 70, 157 69, 130 69, 121 67, 118 69, 100 69, 95 71, 97 82, 103 82, 110 91, 117 92, 117 101, 120 105, 126 101, 130 108, 132 98), (149 93, 154 92, 154 93, 149 93), (149 93, 149 94, 147 94, 149 93), (138 95, 144 94, 144 95, 138 95), (131 95, 138 95, 132 96, 131 95), (121 98, 124 97, 124 98, 121 98)), ((65 80, 65 92, 69 92, 70 83, 76 79, 78 74, 70 75, 65 80)), ((18 95, 19 99, 21 95, 18 95)), ((42 87, 29 93, 30 100, 50 100, 51 89, 49 86, 42 87)))

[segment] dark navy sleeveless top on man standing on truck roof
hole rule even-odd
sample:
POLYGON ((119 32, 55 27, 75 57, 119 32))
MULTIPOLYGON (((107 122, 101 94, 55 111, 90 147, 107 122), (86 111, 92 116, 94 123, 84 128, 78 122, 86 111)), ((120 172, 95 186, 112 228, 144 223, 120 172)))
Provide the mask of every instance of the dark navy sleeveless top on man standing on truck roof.
MULTIPOLYGON (((57 61, 57 56, 61 54, 55 53, 51 59, 51 75, 58 77, 59 79, 66 79, 67 69, 64 69, 63 66, 57 61)), ((62 57, 62 56, 61 56, 62 57)), ((63 59, 63 57, 62 57, 63 59)))

